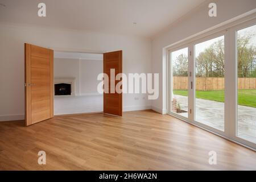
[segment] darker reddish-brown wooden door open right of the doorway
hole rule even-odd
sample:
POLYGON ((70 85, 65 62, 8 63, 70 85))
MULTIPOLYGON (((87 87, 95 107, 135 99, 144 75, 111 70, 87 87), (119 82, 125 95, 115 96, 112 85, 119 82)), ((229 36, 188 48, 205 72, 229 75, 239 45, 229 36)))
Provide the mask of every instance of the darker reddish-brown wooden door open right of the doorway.
MULTIPOLYGON (((103 64, 104 73, 109 76, 109 93, 104 92, 104 113, 122 116, 122 93, 115 91, 114 93, 110 93, 110 69, 115 69, 115 76, 118 73, 122 73, 122 51, 104 53, 103 64)), ((119 81, 115 81, 115 85, 118 82, 119 81)), ((105 82, 104 89, 106 89, 105 82)))

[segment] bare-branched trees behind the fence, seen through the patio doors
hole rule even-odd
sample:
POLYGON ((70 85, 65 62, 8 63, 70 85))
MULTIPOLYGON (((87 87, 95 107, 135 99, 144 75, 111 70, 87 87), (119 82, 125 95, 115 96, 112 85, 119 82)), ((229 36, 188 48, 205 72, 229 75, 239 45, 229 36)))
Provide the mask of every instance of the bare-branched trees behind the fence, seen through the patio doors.
MULTIPOLYGON (((256 33, 247 32, 237 38, 238 77, 256 77, 256 43, 253 40, 255 35, 256 33)), ((224 48, 223 39, 199 53, 196 57, 197 77, 224 77, 224 48)), ((188 76, 188 57, 184 54, 177 56, 172 71, 174 76, 188 76)))

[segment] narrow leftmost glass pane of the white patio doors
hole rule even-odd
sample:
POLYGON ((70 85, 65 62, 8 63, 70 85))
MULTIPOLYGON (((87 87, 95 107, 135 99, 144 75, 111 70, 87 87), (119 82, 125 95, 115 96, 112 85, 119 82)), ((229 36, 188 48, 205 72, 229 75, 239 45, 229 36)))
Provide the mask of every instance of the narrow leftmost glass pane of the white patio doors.
POLYGON ((171 52, 171 111, 188 117, 188 48, 171 52))

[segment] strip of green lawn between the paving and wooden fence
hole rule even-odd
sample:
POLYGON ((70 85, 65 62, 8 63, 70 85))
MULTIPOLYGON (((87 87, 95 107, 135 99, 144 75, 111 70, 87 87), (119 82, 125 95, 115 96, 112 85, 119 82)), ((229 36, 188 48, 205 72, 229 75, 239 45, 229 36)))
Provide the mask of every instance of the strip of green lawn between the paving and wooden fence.
MULTIPOLYGON (((174 90, 174 94, 188 96, 188 90, 174 90)), ((224 90, 196 91, 196 98, 224 102, 224 90)), ((238 90, 238 104, 256 107, 256 89, 238 90)))

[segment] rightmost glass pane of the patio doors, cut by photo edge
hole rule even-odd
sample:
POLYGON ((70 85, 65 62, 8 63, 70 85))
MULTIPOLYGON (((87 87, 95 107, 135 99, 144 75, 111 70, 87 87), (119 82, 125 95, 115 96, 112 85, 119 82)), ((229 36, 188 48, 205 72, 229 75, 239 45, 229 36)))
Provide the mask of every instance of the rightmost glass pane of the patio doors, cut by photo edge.
POLYGON ((237 31, 237 136, 256 143, 256 25, 237 31))

